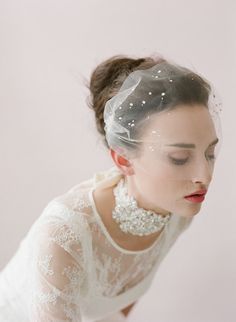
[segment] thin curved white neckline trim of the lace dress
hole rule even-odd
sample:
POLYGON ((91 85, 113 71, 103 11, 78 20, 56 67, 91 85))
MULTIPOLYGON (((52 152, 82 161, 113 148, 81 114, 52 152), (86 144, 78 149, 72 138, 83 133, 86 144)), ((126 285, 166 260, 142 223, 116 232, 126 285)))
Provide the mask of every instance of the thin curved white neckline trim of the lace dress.
MULTIPOLYGON (((166 226, 163 228, 162 232, 160 233, 160 235, 157 237, 157 239, 153 242, 153 244, 147 248, 144 248, 142 250, 129 250, 129 249, 126 249, 126 248, 123 248, 121 247, 120 245, 118 245, 115 240, 111 237, 110 233, 108 232, 106 226, 104 225, 103 221, 102 221, 102 218, 101 218, 101 215, 99 214, 97 208, 96 208, 96 205, 95 205, 95 201, 94 201, 94 197, 93 197, 93 191, 96 189, 96 185, 93 186, 90 190, 89 190, 89 199, 90 199, 90 203, 91 203, 91 206, 92 206, 92 209, 94 211, 94 214, 96 216, 96 219, 98 221, 98 224, 100 226, 100 228, 102 229, 104 235, 106 236, 106 238, 109 240, 109 242, 117 249, 119 250, 120 252, 122 253, 125 253, 125 254, 143 254, 143 253, 146 253, 150 250, 152 250, 160 241, 161 239, 163 238, 163 235, 165 234, 166 232, 166 228, 167 226, 169 225, 169 222, 171 221, 171 218, 169 220, 169 222, 166 224, 166 226)), ((173 214, 172 214, 173 216, 173 214)))

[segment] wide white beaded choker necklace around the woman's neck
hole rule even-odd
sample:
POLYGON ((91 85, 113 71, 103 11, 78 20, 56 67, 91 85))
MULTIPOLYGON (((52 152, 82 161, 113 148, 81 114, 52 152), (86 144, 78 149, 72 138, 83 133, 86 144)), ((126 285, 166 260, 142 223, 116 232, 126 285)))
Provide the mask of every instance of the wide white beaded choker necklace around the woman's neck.
POLYGON ((121 179, 114 188, 116 206, 112 218, 125 233, 144 236, 160 231, 170 220, 171 214, 165 217, 151 210, 139 208, 134 197, 128 195, 127 184, 121 179))

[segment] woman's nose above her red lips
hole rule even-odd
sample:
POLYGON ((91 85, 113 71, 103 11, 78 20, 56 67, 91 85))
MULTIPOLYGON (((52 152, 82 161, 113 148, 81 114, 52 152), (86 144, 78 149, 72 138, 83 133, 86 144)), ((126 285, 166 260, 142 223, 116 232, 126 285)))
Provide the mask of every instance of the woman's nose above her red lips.
POLYGON ((206 159, 198 161, 193 173, 192 181, 194 183, 202 183, 208 186, 212 180, 213 166, 206 159))

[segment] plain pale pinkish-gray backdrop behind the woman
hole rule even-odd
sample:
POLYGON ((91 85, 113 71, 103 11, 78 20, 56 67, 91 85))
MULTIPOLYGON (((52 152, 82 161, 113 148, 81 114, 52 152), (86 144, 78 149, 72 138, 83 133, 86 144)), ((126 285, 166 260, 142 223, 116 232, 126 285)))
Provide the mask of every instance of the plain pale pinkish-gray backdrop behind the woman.
POLYGON ((0 268, 45 205, 112 166, 84 78, 114 54, 160 52, 223 100, 206 201, 130 314, 135 322, 235 321, 235 1, 0 2, 0 268))

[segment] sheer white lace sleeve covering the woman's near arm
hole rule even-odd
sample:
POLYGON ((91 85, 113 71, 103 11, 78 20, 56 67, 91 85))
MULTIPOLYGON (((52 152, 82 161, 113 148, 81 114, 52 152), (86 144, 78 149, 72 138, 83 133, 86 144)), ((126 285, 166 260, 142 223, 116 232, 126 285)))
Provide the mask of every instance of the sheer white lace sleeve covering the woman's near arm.
POLYGON ((30 321, 81 321, 83 255, 76 225, 72 225, 70 219, 46 218, 33 234, 30 321))

